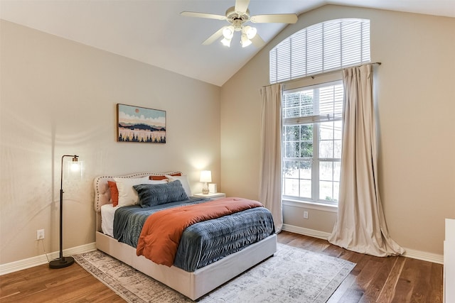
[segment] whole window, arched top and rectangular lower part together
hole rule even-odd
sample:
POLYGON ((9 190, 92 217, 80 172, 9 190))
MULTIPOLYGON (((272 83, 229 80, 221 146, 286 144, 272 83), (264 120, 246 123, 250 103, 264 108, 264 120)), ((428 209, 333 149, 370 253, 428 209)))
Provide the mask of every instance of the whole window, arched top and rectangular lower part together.
POLYGON ((284 199, 338 204, 343 83, 289 83, 370 62, 370 20, 337 19, 294 33, 269 53, 270 83, 282 82, 284 199), (288 81, 288 83, 286 83, 288 81), (292 88, 290 88, 292 87, 292 88))

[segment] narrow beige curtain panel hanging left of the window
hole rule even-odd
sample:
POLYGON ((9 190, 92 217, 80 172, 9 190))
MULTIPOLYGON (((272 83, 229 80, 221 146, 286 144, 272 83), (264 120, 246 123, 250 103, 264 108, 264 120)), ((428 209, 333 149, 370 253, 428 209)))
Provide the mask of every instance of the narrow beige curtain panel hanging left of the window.
POLYGON ((259 202, 272 213, 275 231, 283 227, 282 210, 282 85, 262 87, 259 202))

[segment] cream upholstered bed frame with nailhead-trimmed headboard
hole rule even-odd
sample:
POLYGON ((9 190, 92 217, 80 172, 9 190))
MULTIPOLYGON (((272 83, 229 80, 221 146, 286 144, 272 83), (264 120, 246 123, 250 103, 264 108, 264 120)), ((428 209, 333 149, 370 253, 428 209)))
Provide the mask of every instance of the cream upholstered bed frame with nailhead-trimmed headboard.
MULTIPOLYGON (((132 175, 115 176, 124 178, 137 178, 149 175, 171 175, 178 172, 139 172, 132 175)), ((111 236, 105 235, 101 230, 100 209, 104 204, 110 203, 110 191, 107 181, 114 181, 114 177, 101 176, 95 178, 95 211, 97 215, 96 247, 112 257, 144 272, 144 274, 164 283, 173 290, 196 300, 216 287, 228 282, 233 277, 240 275, 248 268, 262 260, 269 258, 277 251, 277 236, 273 234, 258 243, 252 244, 237 253, 228 255, 215 263, 200 268, 194 272, 187 272, 181 268, 158 265, 144 256, 136 255, 136 248, 118 242, 111 236)))

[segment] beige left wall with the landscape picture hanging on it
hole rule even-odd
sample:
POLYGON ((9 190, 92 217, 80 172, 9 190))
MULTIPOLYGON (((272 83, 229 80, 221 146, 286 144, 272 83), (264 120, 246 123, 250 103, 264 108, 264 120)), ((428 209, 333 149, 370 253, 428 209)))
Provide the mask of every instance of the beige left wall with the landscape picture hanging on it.
POLYGON ((0 264, 58 250, 60 158, 85 177, 64 180, 64 248, 95 241, 97 175, 181 170, 200 192, 220 183, 220 87, 1 21, 0 264), (164 145, 117 143, 116 104, 166 111, 164 145))

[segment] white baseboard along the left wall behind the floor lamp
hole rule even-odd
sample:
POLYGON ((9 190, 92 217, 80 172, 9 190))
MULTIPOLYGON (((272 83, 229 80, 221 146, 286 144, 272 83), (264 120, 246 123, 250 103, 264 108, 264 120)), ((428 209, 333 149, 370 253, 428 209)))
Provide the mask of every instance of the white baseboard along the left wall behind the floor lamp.
MULTIPOLYGON (((69 255, 77 255, 78 253, 87 253, 89 251, 97 249, 95 246, 95 242, 93 243, 88 243, 82 246, 76 246, 73 248, 68 248, 63 250, 63 255, 69 256, 69 255)), ((25 270, 26 268, 33 268, 34 266, 38 266, 41 264, 48 263, 48 258, 49 260, 55 260, 59 258, 60 253, 58 251, 55 251, 53 253, 48 253, 48 256, 46 258, 46 255, 37 255, 36 257, 28 258, 28 259, 23 259, 23 260, 18 260, 14 261, 11 263, 6 263, 6 264, 0 264, 0 275, 5 275, 10 272, 16 272, 18 270, 25 270)))

